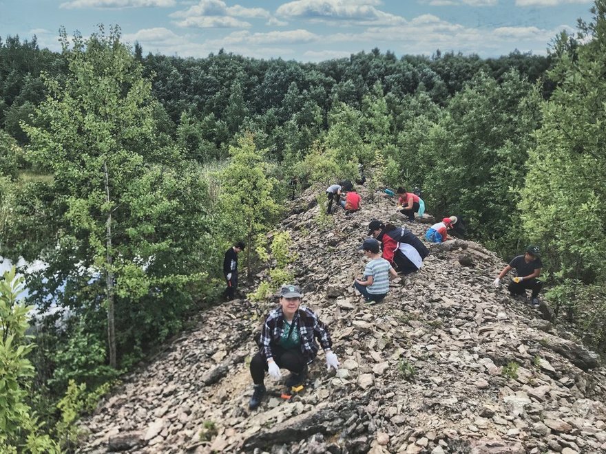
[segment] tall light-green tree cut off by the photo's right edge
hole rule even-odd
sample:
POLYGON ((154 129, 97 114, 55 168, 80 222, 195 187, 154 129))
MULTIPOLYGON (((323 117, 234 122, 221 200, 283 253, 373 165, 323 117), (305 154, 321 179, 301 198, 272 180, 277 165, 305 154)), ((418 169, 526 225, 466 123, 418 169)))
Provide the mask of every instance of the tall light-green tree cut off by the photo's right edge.
POLYGON ((546 250, 556 276, 556 305, 572 308, 587 340, 606 346, 606 1, 581 22, 577 43, 554 43, 550 78, 556 89, 543 103, 521 200, 527 237, 546 250))

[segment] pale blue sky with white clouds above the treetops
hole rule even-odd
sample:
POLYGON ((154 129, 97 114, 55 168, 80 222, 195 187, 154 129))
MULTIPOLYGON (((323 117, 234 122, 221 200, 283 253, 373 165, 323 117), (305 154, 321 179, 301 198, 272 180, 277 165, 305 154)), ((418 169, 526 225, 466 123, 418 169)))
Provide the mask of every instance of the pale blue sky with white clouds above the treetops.
POLYGON ((554 36, 589 21, 592 0, 0 0, 0 36, 59 50, 59 29, 83 36, 119 25, 143 53, 324 61, 378 47, 544 55, 554 36))

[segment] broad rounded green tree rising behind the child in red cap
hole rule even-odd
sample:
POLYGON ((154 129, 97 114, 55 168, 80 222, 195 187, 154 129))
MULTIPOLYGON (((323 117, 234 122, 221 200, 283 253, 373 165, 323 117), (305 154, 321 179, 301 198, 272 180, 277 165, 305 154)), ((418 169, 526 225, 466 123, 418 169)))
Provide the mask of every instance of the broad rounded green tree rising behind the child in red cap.
POLYGON ((520 247, 517 203, 540 100, 515 71, 501 84, 482 73, 430 131, 427 206, 439 216, 462 215, 473 235, 502 252, 520 247))

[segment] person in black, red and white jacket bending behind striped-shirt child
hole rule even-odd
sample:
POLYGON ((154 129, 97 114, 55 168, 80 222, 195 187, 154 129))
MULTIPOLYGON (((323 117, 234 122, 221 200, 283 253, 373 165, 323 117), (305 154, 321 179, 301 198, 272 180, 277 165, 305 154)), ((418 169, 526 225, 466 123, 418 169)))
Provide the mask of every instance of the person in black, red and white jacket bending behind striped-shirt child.
POLYGON ((391 263, 396 272, 410 274, 423 266, 429 250, 408 228, 385 225, 378 219, 368 224, 368 235, 381 242, 383 258, 391 263))

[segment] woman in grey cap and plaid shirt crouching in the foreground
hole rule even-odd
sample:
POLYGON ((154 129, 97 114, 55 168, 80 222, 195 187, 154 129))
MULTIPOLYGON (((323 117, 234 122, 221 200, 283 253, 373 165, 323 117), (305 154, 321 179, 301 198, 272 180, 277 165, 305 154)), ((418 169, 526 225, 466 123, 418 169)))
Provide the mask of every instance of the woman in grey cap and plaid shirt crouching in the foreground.
POLYGON ((251 376, 255 384, 250 409, 256 409, 265 394, 265 372, 276 380, 282 373, 280 368, 291 371, 286 380, 287 387, 300 385, 306 376, 307 365, 317 355, 318 345, 326 353, 328 370, 339 368, 337 355, 332 351, 331 335, 324 323, 309 308, 301 306, 302 294, 296 285, 280 288, 280 306, 271 310, 263 323, 260 350, 251 360, 251 376))

